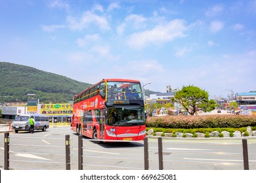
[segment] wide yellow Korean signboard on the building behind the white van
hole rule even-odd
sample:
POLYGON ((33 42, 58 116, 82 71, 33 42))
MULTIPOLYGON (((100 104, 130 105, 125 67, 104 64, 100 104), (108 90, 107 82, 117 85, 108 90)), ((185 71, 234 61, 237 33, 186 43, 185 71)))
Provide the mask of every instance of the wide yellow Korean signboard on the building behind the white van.
POLYGON ((70 116, 73 113, 73 104, 41 104, 41 114, 51 116, 70 116))

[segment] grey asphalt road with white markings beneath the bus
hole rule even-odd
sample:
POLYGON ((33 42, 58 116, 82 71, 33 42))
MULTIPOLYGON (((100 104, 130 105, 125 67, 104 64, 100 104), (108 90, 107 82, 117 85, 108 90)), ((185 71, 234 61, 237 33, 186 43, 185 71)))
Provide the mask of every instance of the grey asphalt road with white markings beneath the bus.
MULTIPOLYGON (((78 169, 78 137, 70 127, 51 127, 47 131, 10 133, 10 168, 64 170, 65 135, 70 135, 71 169, 78 169)), ((4 142, 4 133, 0 141, 4 142)), ((256 169, 256 139, 247 139, 249 169, 256 169)), ((0 168, 4 165, 4 145, 0 147, 0 168)), ((149 167, 158 169, 158 139, 150 139, 149 167)), ((163 169, 242 170, 241 139, 163 139, 163 169)), ((144 169, 144 144, 108 142, 96 144, 83 138, 83 169, 144 169)))

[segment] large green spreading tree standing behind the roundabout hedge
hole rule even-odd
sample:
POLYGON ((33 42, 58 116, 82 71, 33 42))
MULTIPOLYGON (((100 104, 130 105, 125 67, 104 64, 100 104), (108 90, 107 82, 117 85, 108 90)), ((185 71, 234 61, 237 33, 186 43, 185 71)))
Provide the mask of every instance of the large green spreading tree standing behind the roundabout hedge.
POLYGON ((172 101, 179 103, 190 115, 198 115, 197 111, 201 108, 204 112, 215 108, 215 101, 209 100, 208 92, 201 90, 197 86, 182 86, 179 92, 175 93, 172 101))

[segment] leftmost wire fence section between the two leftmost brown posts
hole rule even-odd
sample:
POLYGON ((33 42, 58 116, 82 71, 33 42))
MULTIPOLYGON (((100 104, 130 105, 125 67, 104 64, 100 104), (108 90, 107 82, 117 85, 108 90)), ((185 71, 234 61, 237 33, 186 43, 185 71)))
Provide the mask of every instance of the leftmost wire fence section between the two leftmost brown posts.
MULTIPOLYGON (((47 138, 47 137, 12 137, 12 138, 20 138, 20 139, 54 139, 54 140, 63 140, 63 138, 47 138)), ((5 159, 4 159, 4 168, 5 170, 10 170, 10 169, 24 169, 22 167, 11 167, 10 162, 12 161, 18 161, 18 162, 24 162, 24 163, 58 163, 58 164, 65 164, 66 165, 66 170, 70 170, 70 135, 65 136, 65 141, 64 141, 64 146, 53 146, 53 145, 42 145, 42 144, 12 144, 10 143, 10 136, 9 133, 5 133, 4 137, 4 154, 5 154, 5 159), (14 152, 10 150, 10 146, 34 146, 34 147, 39 147, 39 148, 65 148, 65 154, 54 154, 54 153, 36 153, 36 152, 26 152, 26 154, 32 154, 32 155, 45 155, 45 156, 64 156, 66 158, 65 162, 58 162, 58 161, 28 161, 24 159, 14 159, 10 158, 10 154, 24 154, 24 152, 14 152)))

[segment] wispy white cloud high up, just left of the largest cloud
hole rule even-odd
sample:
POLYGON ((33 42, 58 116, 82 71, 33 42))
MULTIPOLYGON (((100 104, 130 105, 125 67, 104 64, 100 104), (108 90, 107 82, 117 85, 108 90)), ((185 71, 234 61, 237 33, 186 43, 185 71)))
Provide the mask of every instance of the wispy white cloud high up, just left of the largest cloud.
POLYGON ((73 16, 68 16, 67 22, 68 27, 70 27, 70 29, 72 30, 81 30, 91 24, 98 25, 100 29, 110 29, 110 26, 108 25, 108 20, 104 16, 98 16, 91 11, 84 12, 81 18, 79 18, 78 20, 73 16))

